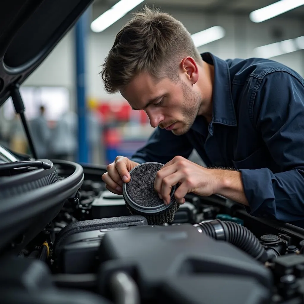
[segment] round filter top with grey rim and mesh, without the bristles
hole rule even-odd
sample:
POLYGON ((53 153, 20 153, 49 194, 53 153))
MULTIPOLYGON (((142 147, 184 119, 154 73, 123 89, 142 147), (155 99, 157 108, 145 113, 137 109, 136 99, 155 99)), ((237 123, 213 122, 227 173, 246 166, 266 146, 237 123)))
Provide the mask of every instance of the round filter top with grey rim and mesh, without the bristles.
POLYGON ((158 213, 169 208, 176 202, 173 186, 170 192, 171 202, 165 205, 154 190, 154 180, 158 170, 163 164, 148 162, 134 167, 129 173, 131 179, 123 184, 123 196, 126 203, 140 213, 158 213))

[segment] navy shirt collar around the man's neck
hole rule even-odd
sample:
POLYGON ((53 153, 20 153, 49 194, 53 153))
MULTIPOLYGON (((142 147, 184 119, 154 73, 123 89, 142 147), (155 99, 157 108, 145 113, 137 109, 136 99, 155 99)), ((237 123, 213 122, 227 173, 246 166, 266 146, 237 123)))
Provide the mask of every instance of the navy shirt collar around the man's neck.
POLYGON ((212 123, 237 126, 237 119, 231 93, 231 81, 228 64, 211 53, 201 54, 202 59, 214 65, 214 83, 212 92, 212 121, 209 132, 213 133, 212 123))

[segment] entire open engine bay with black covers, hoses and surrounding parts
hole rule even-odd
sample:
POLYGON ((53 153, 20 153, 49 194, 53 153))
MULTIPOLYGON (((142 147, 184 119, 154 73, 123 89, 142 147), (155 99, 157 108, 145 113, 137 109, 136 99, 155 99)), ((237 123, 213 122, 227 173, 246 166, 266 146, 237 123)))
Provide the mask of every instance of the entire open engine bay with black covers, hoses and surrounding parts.
MULTIPOLYGON (((58 182, 74 174, 53 162, 58 182)), ((104 167, 82 168, 56 216, 2 250, 1 303, 303 303, 303 229, 191 193, 173 223, 148 225, 105 188, 104 167)))

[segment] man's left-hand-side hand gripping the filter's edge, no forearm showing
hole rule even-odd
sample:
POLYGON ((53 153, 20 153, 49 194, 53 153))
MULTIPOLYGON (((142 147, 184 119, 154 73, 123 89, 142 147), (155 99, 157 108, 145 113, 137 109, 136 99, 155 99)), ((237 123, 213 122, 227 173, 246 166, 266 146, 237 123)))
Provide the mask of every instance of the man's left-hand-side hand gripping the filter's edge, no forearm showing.
POLYGON ((112 164, 107 165, 107 172, 102 174, 102 180, 105 182, 105 187, 115 193, 123 194, 123 183, 130 181, 129 171, 139 165, 135 161, 130 161, 129 158, 117 156, 112 164))

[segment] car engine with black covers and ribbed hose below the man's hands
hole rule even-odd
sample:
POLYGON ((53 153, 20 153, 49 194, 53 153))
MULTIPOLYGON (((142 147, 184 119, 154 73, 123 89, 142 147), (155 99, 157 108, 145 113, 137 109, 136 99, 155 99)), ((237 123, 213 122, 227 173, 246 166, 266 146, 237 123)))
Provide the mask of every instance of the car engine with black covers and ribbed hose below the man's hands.
POLYGON ((80 278, 97 274, 99 292, 114 302, 119 277, 143 303, 172 297, 176 303, 300 301, 304 241, 274 227, 263 230, 244 215, 224 198, 189 194, 172 224, 148 225, 145 217, 130 215, 122 195, 86 180, 50 229, 56 234, 53 267, 80 278))

